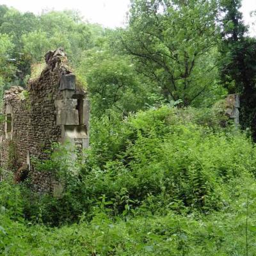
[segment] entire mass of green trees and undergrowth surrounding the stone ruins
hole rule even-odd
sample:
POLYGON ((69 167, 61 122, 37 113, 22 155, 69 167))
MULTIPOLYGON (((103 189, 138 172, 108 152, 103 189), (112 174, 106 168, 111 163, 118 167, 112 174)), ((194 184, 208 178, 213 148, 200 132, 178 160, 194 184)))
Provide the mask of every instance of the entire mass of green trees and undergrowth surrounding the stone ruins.
POLYGON ((255 40, 240 6, 132 0, 124 29, 0 6, 0 95, 64 47, 92 105, 84 160, 56 143, 33 160, 61 196, 1 170, 1 255, 255 254, 255 40))

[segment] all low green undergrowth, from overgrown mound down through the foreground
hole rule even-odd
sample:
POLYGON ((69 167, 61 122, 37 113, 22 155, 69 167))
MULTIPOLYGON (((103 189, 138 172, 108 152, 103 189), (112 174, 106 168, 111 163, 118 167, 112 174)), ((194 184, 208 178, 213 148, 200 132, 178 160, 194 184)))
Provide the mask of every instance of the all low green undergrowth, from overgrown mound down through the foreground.
POLYGON ((253 255, 255 147, 221 113, 161 106, 92 120, 85 163, 65 148, 38 162, 61 198, 1 182, 1 253, 253 255))

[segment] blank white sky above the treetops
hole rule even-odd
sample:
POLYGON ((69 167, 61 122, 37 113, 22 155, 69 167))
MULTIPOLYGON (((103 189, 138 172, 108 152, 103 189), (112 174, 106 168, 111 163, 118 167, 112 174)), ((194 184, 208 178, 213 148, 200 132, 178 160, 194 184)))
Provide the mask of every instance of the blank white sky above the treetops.
MULTIPOLYGON (((0 0, 0 4, 12 6, 21 12, 40 13, 42 10, 79 10, 84 19, 109 28, 124 26, 129 0, 0 0)), ((251 33, 256 35, 256 26, 250 12, 256 10, 256 0, 243 0, 241 11, 246 24, 251 24, 251 33), (254 27, 254 28, 253 28, 254 27)))

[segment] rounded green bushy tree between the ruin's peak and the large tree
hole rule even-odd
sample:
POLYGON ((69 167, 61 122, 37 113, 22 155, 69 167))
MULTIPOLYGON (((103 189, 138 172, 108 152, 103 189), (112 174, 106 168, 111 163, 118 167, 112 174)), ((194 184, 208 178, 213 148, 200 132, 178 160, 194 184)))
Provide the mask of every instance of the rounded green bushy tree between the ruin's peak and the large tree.
POLYGON ((150 103, 150 88, 141 83, 132 64, 124 58, 108 58, 92 68, 86 76, 93 100, 92 114, 99 116, 115 109, 127 115, 150 103))

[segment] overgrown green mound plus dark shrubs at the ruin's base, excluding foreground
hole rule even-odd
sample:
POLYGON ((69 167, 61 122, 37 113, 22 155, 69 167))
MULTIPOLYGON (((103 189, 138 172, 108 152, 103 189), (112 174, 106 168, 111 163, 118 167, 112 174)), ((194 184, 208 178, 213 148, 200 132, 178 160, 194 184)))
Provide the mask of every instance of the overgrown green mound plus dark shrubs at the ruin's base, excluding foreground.
POLYGON ((122 122, 115 115, 93 120, 85 163, 68 160, 70 152, 58 148, 37 164, 61 181, 63 196, 29 200, 26 216, 60 225, 83 212, 90 220, 102 211, 115 218, 220 211, 223 188, 255 173, 256 165, 252 142, 232 125, 221 127, 223 117, 214 111, 163 106, 122 122))

